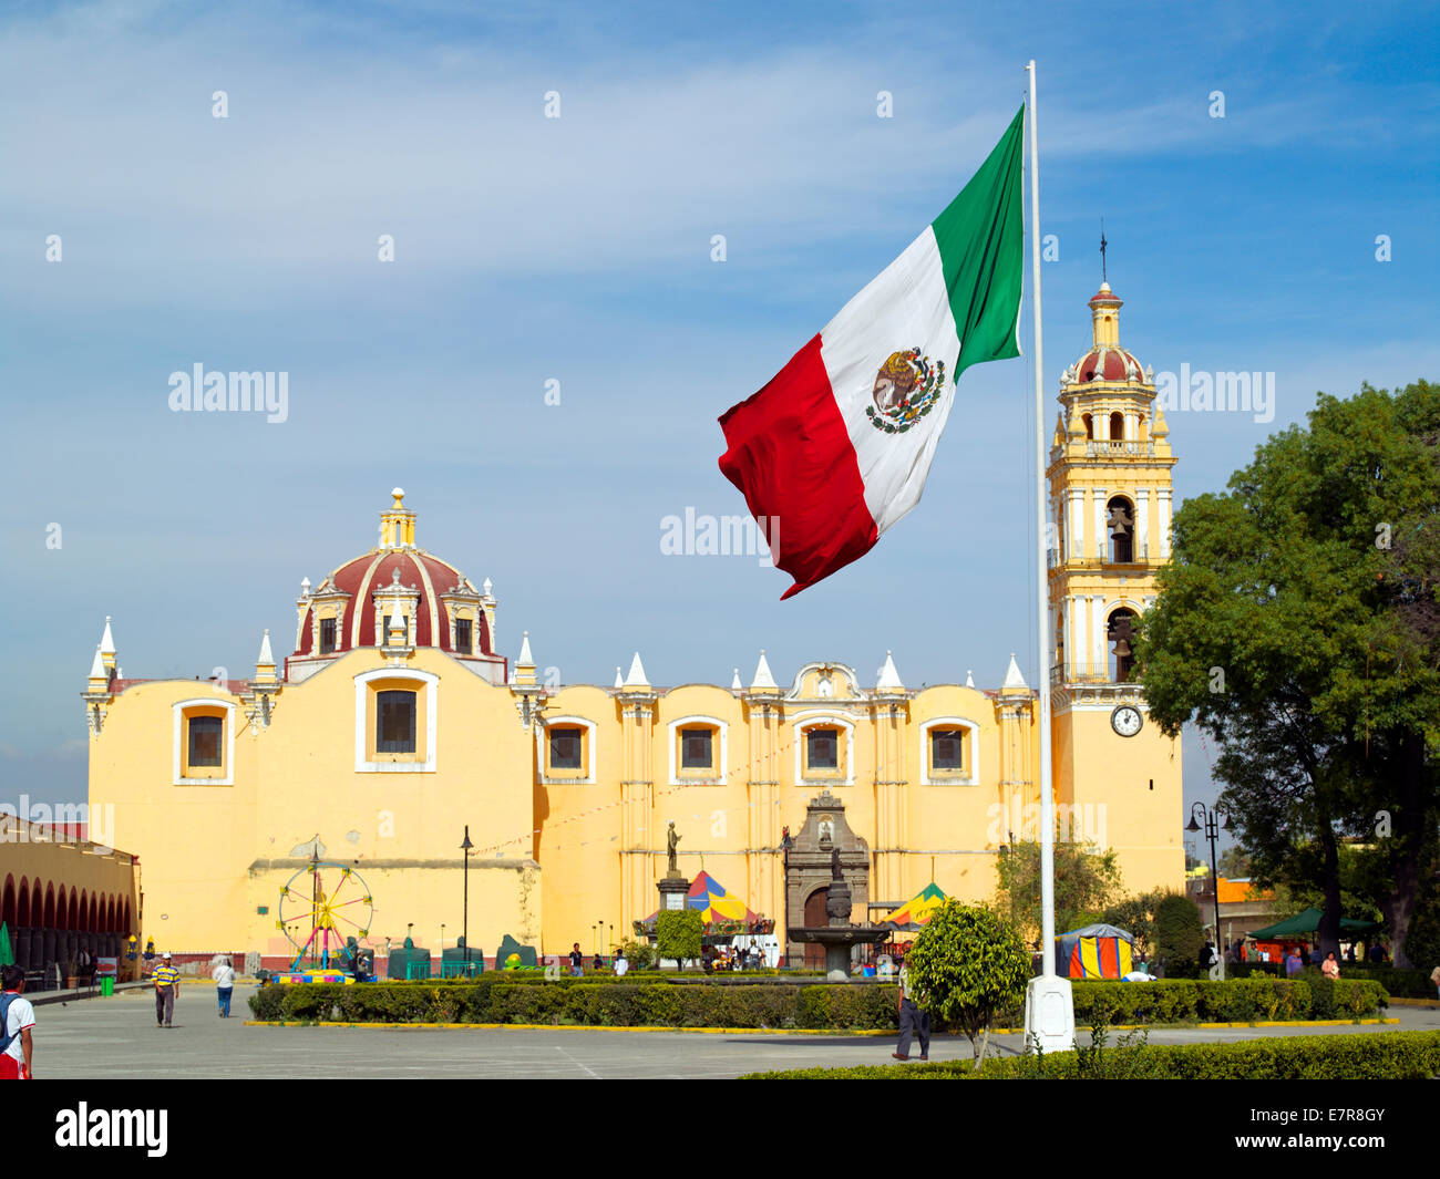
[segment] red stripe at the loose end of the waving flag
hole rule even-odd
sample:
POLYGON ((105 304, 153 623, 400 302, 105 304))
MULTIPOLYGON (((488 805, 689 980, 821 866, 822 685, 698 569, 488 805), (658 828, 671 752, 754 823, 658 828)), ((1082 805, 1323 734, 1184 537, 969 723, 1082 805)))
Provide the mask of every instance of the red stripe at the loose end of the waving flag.
POLYGON ((772 553, 779 537, 775 564, 795 579, 782 602, 863 557, 878 540, 819 344, 816 335, 765 389, 720 417, 729 445, 720 471, 763 523, 772 553))

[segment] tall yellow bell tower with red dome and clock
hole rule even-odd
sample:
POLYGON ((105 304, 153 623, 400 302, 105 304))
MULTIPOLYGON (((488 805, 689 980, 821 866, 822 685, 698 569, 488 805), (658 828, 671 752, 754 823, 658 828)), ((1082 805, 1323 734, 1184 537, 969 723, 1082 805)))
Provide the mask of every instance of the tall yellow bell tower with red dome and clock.
POLYGON ((1149 723, 1132 648, 1171 554, 1176 459, 1155 371, 1120 345, 1122 301, 1102 282, 1089 305, 1090 345, 1060 377, 1047 471, 1058 835, 1115 848, 1128 893, 1179 888, 1179 741, 1149 723))

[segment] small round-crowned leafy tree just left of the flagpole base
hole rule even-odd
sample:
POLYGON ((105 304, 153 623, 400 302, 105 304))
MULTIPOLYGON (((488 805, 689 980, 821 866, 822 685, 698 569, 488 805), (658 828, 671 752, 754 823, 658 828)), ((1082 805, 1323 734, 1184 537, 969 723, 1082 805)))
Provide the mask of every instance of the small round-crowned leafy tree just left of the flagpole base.
POLYGON ((1032 973, 1030 952, 1012 926, 953 897, 930 916, 906 965, 920 1005, 969 1036, 976 1062, 989 1047, 995 1012, 1025 998, 1032 973), (976 1036, 982 1036, 978 1045, 976 1036))

